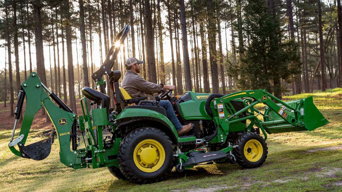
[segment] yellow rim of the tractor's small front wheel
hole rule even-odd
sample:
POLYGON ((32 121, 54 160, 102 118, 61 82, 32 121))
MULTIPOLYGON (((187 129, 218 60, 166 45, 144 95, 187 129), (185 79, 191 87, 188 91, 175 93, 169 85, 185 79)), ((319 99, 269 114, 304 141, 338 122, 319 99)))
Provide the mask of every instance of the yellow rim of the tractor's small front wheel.
POLYGON ((263 148, 261 142, 256 139, 247 141, 244 147, 244 154, 248 161, 257 162, 261 159, 263 148))

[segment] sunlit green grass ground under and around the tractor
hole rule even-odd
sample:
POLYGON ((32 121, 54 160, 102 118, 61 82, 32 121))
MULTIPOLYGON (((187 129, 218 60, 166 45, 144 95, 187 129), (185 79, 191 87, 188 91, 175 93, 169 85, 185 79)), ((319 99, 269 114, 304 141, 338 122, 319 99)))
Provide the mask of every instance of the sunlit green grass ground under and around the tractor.
MULTIPOLYGON (((268 135, 268 157, 259 168, 214 163, 195 166, 182 175, 173 170, 167 180, 145 185, 118 180, 106 168, 74 170, 64 166, 57 139, 47 159, 23 159, 7 146, 11 130, 0 131, 0 191, 341 191, 340 94, 341 88, 285 97, 313 96, 331 123, 312 132, 268 135)), ((39 136, 42 131, 31 130, 27 143, 43 139, 39 136)))

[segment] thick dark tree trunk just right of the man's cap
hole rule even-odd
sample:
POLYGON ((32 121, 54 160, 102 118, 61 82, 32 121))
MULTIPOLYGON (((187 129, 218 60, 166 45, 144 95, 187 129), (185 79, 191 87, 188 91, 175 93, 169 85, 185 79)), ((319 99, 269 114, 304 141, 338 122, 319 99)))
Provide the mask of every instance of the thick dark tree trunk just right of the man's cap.
POLYGON ((154 57, 154 38, 152 28, 152 10, 149 1, 145 1, 145 17, 146 23, 146 40, 147 40, 147 62, 148 62, 148 79, 152 83, 157 83, 156 63, 154 57))

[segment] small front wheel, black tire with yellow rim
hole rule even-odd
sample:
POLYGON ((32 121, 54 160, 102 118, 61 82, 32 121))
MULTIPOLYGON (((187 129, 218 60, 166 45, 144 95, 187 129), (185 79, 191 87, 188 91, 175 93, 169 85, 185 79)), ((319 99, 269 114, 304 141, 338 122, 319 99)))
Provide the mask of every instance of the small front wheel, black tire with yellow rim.
POLYGON ((236 162, 245 168, 256 168, 261 166, 267 158, 267 144, 258 134, 247 132, 237 140, 234 149, 236 162))

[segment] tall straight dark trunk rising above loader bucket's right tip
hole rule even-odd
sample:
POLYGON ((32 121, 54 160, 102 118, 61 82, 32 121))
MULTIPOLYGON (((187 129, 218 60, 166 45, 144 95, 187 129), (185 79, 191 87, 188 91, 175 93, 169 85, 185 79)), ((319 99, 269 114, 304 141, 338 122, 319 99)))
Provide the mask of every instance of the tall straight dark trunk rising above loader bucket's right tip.
POLYGON ((318 2, 318 30, 319 30, 319 58, 321 62, 321 83, 322 91, 326 90, 326 79, 325 79, 325 64, 324 64, 324 49, 323 49, 323 31, 322 31, 322 13, 320 0, 318 2))

